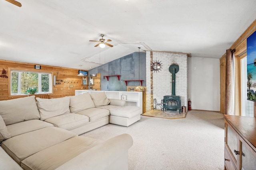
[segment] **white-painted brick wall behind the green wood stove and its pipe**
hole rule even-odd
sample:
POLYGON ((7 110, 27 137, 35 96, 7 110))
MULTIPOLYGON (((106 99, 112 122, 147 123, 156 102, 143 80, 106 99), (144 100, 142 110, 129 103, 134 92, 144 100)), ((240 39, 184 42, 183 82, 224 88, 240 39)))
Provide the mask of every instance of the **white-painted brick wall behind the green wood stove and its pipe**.
MULTIPOLYGON (((167 52, 146 52, 146 111, 152 109, 152 100, 160 103, 165 95, 172 95, 172 74, 169 72, 171 64, 178 64, 179 71, 176 73, 176 96, 181 96, 181 106, 188 109, 188 57, 186 54, 167 52), (150 53, 151 61, 161 61, 162 69, 159 72, 153 71, 150 74, 150 53), (152 88, 152 89, 151 89, 152 88)), ((160 108, 157 108, 160 109, 160 108)))

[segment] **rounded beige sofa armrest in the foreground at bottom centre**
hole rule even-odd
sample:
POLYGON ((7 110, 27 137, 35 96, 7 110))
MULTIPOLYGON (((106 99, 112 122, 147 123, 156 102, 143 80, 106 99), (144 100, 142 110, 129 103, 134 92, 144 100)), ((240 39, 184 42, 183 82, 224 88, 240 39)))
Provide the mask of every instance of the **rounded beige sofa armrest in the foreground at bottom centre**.
POLYGON ((132 144, 130 135, 118 135, 86 150, 56 170, 128 170, 128 149, 132 144))

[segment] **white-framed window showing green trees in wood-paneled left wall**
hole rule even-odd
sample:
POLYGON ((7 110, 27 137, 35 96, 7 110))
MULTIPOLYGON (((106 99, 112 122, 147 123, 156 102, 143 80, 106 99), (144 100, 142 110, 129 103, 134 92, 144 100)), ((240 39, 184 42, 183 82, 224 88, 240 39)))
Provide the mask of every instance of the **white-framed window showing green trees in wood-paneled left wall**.
POLYGON ((11 70, 11 95, 45 93, 52 93, 52 73, 11 70))

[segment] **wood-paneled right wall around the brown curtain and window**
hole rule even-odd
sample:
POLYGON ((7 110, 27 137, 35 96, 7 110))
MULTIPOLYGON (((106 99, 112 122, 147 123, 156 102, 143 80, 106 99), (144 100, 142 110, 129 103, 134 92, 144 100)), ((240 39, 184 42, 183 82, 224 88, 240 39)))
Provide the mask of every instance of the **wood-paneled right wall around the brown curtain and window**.
MULTIPOLYGON (((241 69, 240 69, 240 60, 243 57, 246 57, 246 39, 256 31, 256 20, 244 31, 244 33, 234 42, 234 44, 230 47, 230 49, 236 49, 235 54, 235 115, 242 115, 242 96, 241 96, 241 69)), ((220 113, 224 113, 224 107, 226 102, 226 96, 222 93, 225 93, 223 87, 226 86, 226 56, 225 54, 220 58, 220 113), (223 65, 224 64, 224 65, 223 65), (223 90, 222 90, 223 88, 223 90), (223 97, 225 97, 223 99, 223 97)), ((254 114, 255 113, 254 109, 254 114)), ((224 113, 225 114, 225 113, 224 113)))

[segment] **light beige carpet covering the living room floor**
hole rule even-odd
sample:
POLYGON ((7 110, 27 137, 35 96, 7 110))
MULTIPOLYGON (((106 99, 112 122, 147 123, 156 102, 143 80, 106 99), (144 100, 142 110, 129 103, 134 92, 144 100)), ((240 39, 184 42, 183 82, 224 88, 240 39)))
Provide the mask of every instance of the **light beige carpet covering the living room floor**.
POLYGON ((128 133, 129 170, 223 170, 224 118, 221 113, 188 111, 184 119, 141 116, 123 127, 108 124, 82 135, 107 140, 128 133))

